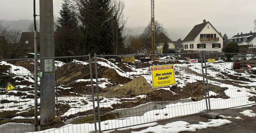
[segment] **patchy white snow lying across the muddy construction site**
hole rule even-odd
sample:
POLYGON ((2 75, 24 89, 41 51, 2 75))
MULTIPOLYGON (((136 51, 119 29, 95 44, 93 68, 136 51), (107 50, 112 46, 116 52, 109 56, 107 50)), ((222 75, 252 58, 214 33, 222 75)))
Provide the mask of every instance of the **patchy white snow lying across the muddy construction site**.
MULTIPOLYGON (((105 59, 101 59, 105 60, 105 59)), ((78 62, 74 61, 78 64, 87 65, 87 62, 78 62)), ((132 69, 132 72, 126 72, 121 69, 119 69, 116 64, 113 64, 111 62, 108 62, 105 60, 105 62, 97 62, 98 65, 108 67, 110 69, 114 69, 119 75, 122 77, 128 77, 131 79, 134 79, 138 76, 143 76, 146 81, 149 84, 152 84, 152 76, 150 75, 149 67, 143 67, 143 68, 136 68, 134 66, 128 66, 130 69, 132 69)), ((152 62, 151 62, 152 63, 152 62)), ((0 62, 0 65, 10 65, 11 69, 6 72, 6 74, 15 74, 15 75, 32 75, 32 73, 20 66, 14 66, 12 64, 8 64, 7 62, 0 62)), ((61 67, 64 65, 62 62, 56 63, 58 67, 61 67)), ((195 83, 197 81, 203 81, 202 77, 202 64, 201 63, 186 63, 185 61, 180 61, 179 64, 174 64, 174 69, 177 71, 175 75, 176 79, 176 85, 178 87, 184 87, 188 83, 195 83)), ((152 64, 153 66, 153 64, 152 64)), ((210 108, 211 109, 225 109, 230 107, 238 107, 238 106, 244 106, 247 105, 247 107, 252 106, 255 101, 249 101, 249 97, 256 96, 255 86, 256 86, 256 78, 252 76, 252 74, 249 73, 237 73, 236 71, 232 70, 232 63, 231 62, 215 62, 215 63, 207 63, 207 76, 208 76, 208 83, 212 85, 216 85, 218 87, 226 87, 227 89, 224 91, 226 96, 229 98, 223 99, 222 97, 212 97, 208 100, 210 101, 210 108), (227 76, 228 74, 228 76, 227 76), (234 78, 230 77, 236 77, 234 78), (246 81, 239 80, 241 78, 246 78, 246 81)), ((205 73, 205 71, 204 71, 205 73)), ((16 77, 12 77, 15 79, 16 77)), ((34 82, 33 76, 22 76, 22 79, 16 80, 16 82, 21 81, 29 81, 31 83, 34 82)), ((39 80, 39 78, 38 78, 39 80)), ((93 79, 95 81, 95 79, 93 79)), ((106 88, 108 84, 111 84, 110 79, 108 78, 99 78, 99 87, 106 88)), ((206 78, 204 79, 206 80, 206 78)), ((77 79, 76 82, 84 82, 84 81, 90 81, 90 79, 77 79)), ((90 85, 89 85, 90 86, 90 85)), ((33 88, 33 85, 16 85, 16 87, 19 88, 33 88)), ((60 86, 61 87, 61 86, 60 86)), ((3 90, 5 88, 2 88, 3 90)), ((70 89, 62 87, 62 89, 70 89)), ((170 90, 170 87, 162 87, 158 89, 165 89, 168 91, 170 90)), ((12 90, 13 93, 18 93, 15 89, 12 90)), ((28 95, 31 95, 31 91, 22 91, 22 93, 26 93, 28 95)), ((219 96, 220 94, 209 91, 208 96, 219 96)), ((134 97, 123 97, 123 99, 137 99, 140 97, 141 99, 146 99, 148 96, 145 95, 136 95, 134 97)), ((122 100, 120 98, 107 98, 107 97, 101 97, 102 99, 99 102, 100 108, 113 108, 112 105, 117 103, 122 103, 122 100)), ((10 102, 10 103, 1 103, 0 111, 18 111, 16 113, 16 117, 13 119, 20 119, 24 118, 22 116, 18 116, 20 113, 24 113, 31 109, 31 105, 34 104, 34 99, 24 99, 20 96, 14 96, 14 95, 0 95, 0 100, 8 100, 8 101, 18 101, 16 102, 10 102)), ((182 99, 182 100, 190 100, 190 99, 182 99)), ((38 101, 40 101, 40 98, 38 98, 38 101)), ((79 112, 89 111, 92 110, 92 97, 88 95, 81 96, 73 96, 73 97, 58 97, 59 103, 68 104, 70 105, 70 109, 66 111, 64 114, 62 114, 62 117, 68 117, 70 115, 74 115, 79 112), (86 102, 87 104, 83 104, 86 102)), ((95 106, 97 107, 97 101, 94 102, 95 106)), ((148 103, 150 104, 150 103, 148 103)), ((152 102, 151 104, 154 104, 152 102)), ((140 106, 140 105, 139 105, 140 106)), ((135 107, 134 107, 135 108, 135 107)), ((167 105, 164 105, 161 109, 153 109, 153 110, 146 110, 145 113, 141 116, 131 116, 131 117, 124 117, 122 119, 109 119, 106 121, 102 121, 100 123, 101 130, 111 130, 116 128, 121 128, 118 130, 124 130, 122 127, 128 127, 129 129, 132 128, 140 128, 140 127, 150 127, 148 129, 142 130, 138 133, 147 133, 147 132, 153 132, 153 133, 178 133, 181 131, 195 131, 198 129, 205 129, 207 127, 216 127, 220 125, 225 125, 231 123, 231 121, 228 121, 226 119, 211 119, 208 123, 199 122, 197 125, 190 125, 189 123, 185 121, 177 121, 174 123, 168 123, 166 125, 157 125, 155 121, 164 120, 164 119, 171 119, 175 117, 181 117, 191 114, 200 113, 200 111, 206 111, 206 100, 200 100, 200 101, 193 101, 193 102, 174 102, 167 105), (143 123, 148 123, 144 125, 140 125, 143 123), (134 126, 133 125, 139 125, 134 126), (157 125, 157 126, 155 126, 157 125), (154 127, 152 127, 154 126, 154 127)), ((244 113, 248 114, 250 116, 254 116, 253 111, 247 111, 244 113)), ((31 119, 34 117, 31 116, 31 119)), ((98 123, 97 123, 98 126, 98 123)), ((45 131, 39 131, 38 133, 62 133, 62 132, 69 132, 69 133, 89 133, 90 131, 94 130, 94 123, 83 123, 83 124, 67 124, 63 127, 57 128, 57 129, 48 129, 45 131)), ((110 131, 106 131, 110 132, 110 131)), ((137 132, 134 132, 137 133, 137 132)))

